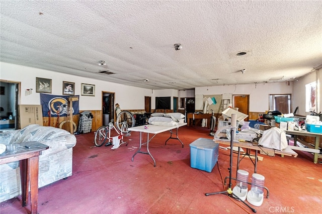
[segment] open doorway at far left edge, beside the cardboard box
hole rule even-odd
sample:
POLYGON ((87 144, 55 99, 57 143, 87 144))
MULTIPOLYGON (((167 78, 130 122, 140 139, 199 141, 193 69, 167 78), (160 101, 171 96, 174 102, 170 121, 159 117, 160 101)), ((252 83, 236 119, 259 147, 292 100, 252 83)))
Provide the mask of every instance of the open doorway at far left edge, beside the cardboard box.
MULTIPOLYGON (((20 103, 21 82, 1 80, 1 126, 0 131, 19 129, 18 127, 18 105, 20 103)), ((27 94, 27 91, 26 91, 27 94)))

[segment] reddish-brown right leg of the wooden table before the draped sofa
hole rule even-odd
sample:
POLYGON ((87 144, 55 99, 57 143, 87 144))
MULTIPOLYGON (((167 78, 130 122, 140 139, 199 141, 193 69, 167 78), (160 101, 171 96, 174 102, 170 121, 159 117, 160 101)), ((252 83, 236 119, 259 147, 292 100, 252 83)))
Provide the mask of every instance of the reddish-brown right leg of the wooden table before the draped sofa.
POLYGON ((39 156, 29 159, 29 176, 30 176, 30 203, 31 213, 37 214, 38 210, 38 170, 39 156))

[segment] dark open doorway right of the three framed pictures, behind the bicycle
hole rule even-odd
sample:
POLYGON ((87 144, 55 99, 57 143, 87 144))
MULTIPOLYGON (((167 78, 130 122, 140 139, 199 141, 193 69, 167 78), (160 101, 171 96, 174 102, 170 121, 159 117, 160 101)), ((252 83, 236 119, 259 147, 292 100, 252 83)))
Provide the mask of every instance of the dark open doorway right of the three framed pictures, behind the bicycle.
POLYGON ((110 122, 115 121, 115 93, 109 91, 102 91, 102 124, 108 126, 110 122))

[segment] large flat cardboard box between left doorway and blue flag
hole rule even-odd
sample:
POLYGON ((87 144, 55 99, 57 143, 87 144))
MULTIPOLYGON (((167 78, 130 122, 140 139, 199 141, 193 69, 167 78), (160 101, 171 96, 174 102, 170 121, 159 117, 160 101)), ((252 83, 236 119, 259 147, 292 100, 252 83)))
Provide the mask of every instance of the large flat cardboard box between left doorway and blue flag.
POLYGON ((41 105, 18 105, 20 129, 31 124, 43 126, 41 105))

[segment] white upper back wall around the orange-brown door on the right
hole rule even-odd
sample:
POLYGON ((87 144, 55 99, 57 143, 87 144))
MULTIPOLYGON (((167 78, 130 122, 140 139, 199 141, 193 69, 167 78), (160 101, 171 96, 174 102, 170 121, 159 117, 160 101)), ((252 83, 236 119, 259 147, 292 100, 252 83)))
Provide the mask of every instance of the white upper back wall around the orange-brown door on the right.
POLYGON ((250 95, 250 112, 265 112, 269 110, 269 94, 293 93, 293 82, 276 82, 260 84, 220 85, 198 87, 195 94, 232 93, 250 95))

